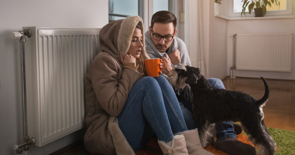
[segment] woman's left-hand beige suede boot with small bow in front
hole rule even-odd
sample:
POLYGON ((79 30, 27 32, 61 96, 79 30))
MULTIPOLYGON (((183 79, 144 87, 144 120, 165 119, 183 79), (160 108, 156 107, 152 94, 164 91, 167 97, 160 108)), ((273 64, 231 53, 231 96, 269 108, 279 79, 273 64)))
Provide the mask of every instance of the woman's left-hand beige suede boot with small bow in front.
POLYGON ((168 143, 159 140, 158 143, 163 154, 165 155, 188 155, 188 151, 186 149, 186 142, 183 135, 174 136, 172 141, 168 143))

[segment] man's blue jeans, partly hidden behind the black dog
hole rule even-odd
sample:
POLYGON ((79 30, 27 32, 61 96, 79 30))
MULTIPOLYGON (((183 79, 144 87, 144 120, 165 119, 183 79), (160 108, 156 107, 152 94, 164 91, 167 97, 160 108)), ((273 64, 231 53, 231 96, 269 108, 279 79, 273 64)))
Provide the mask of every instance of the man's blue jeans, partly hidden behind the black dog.
MULTIPOLYGON (((214 88, 225 89, 220 79, 209 78, 207 80, 214 88)), ((187 128, 189 130, 194 129, 195 121, 191 113, 191 110, 192 110, 191 102, 184 99, 184 97, 182 97, 181 95, 177 96, 177 98, 178 98, 187 128)), ((217 131, 216 131, 217 140, 216 141, 221 141, 221 140, 232 138, 232 137, 237 138, 237 134, 235 133, 235 130, 231 121, 217 124, 217 131)))

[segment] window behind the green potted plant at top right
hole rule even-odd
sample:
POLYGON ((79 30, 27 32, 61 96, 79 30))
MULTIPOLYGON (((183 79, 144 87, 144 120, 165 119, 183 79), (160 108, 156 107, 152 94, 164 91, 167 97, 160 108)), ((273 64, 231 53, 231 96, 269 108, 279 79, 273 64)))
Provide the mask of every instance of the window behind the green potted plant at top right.
MULTIPOLYGON (((271 7, 266 7, 266 15, 267 16, 275 16, 275 15, 290 15, 292 14, 292 0, 279 0, 280 6, 276 6, 273 4, 271 7)), ((242 11, 242 2, 241 0, 229 0, 228 2, 228 16, 229 17, 241 17, 242 11)), ((246 17, 254 16, 254 11, 252 14, 247 13, 248 8, 246 9, 246 17)), ((243 15, 245 17, 245 15, 243 15)))

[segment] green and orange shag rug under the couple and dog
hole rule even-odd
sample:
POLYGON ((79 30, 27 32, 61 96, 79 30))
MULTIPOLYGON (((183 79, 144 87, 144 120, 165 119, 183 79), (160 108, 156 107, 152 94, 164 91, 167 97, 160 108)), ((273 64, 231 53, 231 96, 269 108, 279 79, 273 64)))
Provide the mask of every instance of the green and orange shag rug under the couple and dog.
MULTIPOLYGON (((277 143, 278 149, 276 150, 276 155, 295 155, 295 131, 281 130, 276 128, 267 128, 267 129, 269 130, 269 132, 271 133, 271 136, 277 143)), ((242 132, 242 134, 245 134, 245 133, 242 132)), ((247 139, 247 137, 245 136, 244 139, 247 139)), ((212 151, 208 148, 206 150, 213 153, 215 153, 216 151, 216 150, 212 151)), ((220 150, 218 151, 219 153, 217 154, 225 154, 224 152, 220 153, 221 152, 220 150)), ((157 141, 153 140, 153 141, 149 141, 149 146, 143 148, 140 151, 136 151, 135 153, 136 155, 161 154, 161 150, 159 150, 157 146, 157 141), (152 145, 150 143, 152 143, 152 145)), ((76 155, 90 155, 90 154, 87 150, 83 150, 81 152, 78 152, 76 155)))

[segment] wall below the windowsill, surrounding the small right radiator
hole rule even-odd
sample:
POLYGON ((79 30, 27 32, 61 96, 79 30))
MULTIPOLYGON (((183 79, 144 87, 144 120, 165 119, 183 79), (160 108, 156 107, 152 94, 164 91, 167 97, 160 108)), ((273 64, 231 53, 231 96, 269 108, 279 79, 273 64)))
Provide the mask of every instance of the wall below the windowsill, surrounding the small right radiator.
POLYGON ((263 76, 272 79, 295 79, 295 18, 288 19, 249 19, 228 20, 227 22, 227 75, 230 75, 230 67, 233 66, 233 37, 236 33, 276 33, 292 32, 292 71, 245 71, 235 70, 235 76, 255 77, 263 76))

